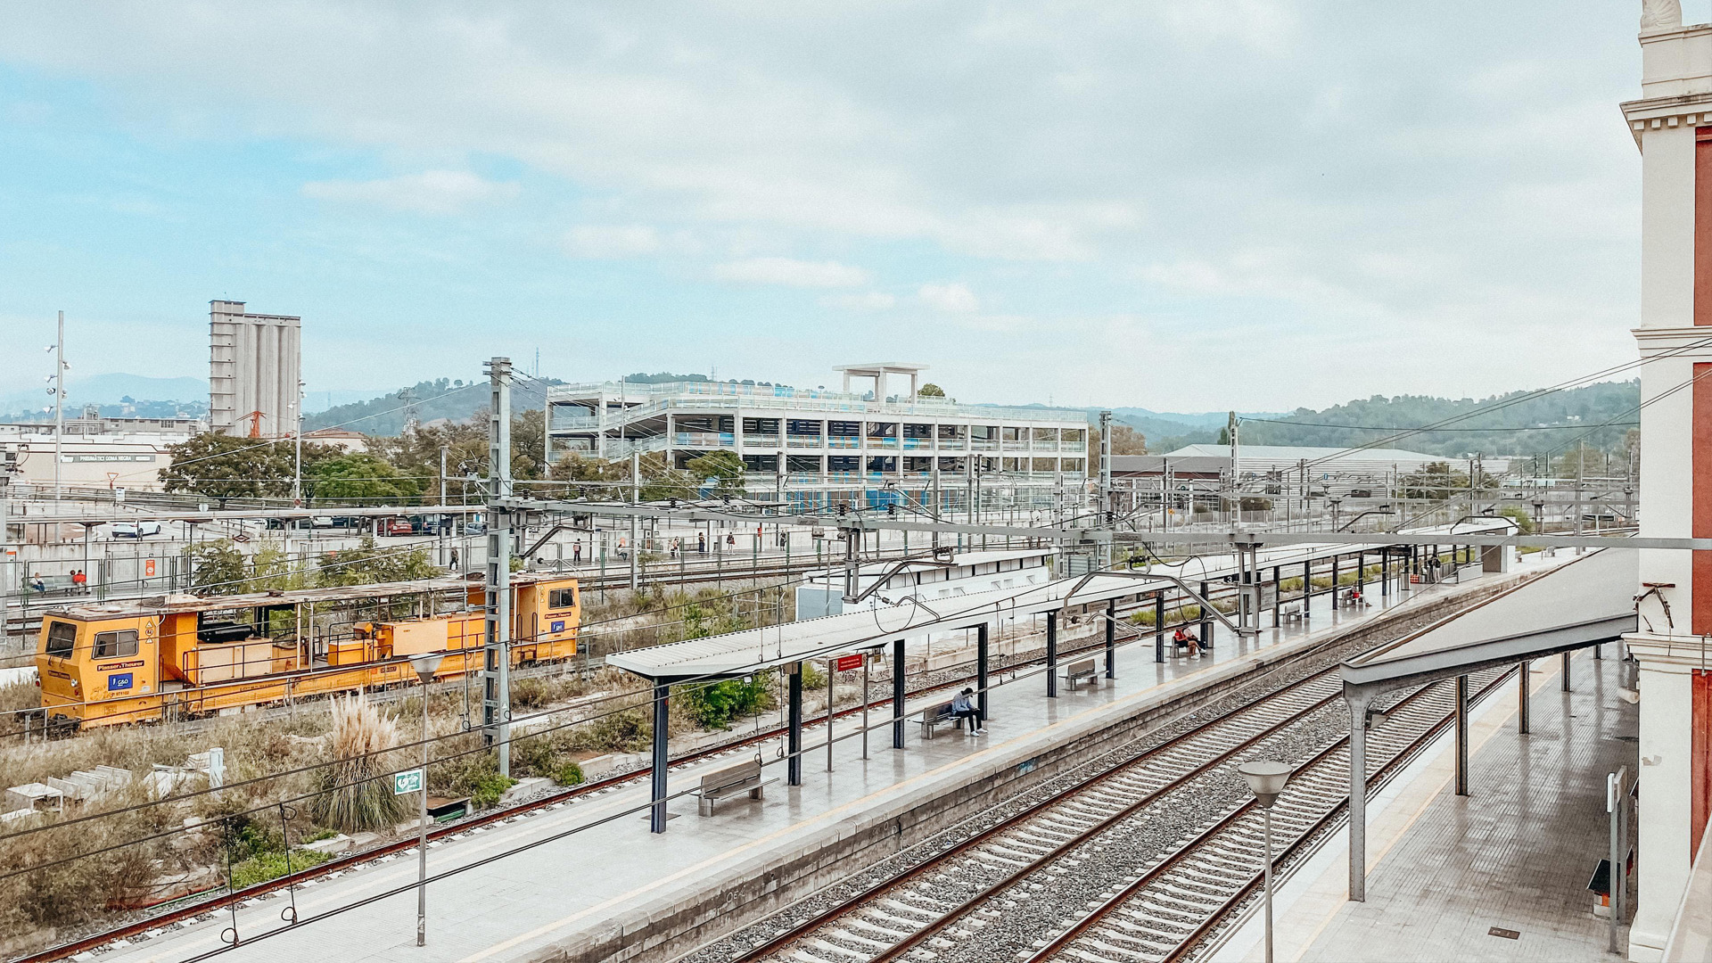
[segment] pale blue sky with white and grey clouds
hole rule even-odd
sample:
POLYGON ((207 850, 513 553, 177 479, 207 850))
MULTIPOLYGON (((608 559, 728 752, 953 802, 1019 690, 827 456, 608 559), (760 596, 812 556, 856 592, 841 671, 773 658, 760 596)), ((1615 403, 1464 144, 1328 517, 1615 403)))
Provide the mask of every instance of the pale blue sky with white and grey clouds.
POLYGON ((310 392, 538 351, 1162 411, 1539 387, 1635 355, 1638 9, 5 3, 0 392, 56 310, 74 389, 205 377, 211 298, 301 315, 310 392))

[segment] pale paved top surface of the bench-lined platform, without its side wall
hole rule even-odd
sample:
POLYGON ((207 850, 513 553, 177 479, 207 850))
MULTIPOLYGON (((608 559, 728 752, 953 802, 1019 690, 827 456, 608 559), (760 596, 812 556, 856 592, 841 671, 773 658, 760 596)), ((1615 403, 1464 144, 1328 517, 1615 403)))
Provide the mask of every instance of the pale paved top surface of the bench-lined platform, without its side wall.
MULTIPOLYGON (((1522 565, 1522 571, 1541 562, 1522 565)), ((1476 588, 1483 579, 1471 579, 1476 588)), ((1433 586, 1387 600, 1419 605, 1459 586, 1433 586)), ((1378 593, 1373 591, 1378 600, 1378 593)), ((430 846, 430 874, 457 865, 495 858, 454 876, 428 889, 428 946, 414 946, 414 891, 378 898, 339 915, 318 915, 372 898, 389 888, 416 879, 416 853, 366 864, 365 867, 308 884, 296 893, 301 922, 289 932, 247 942, 223 960, 339 960, 339 961, 440 961, 440 960, 522 960, 532 958, 555 941, 579 932, 597 932, 623 913, 652 912, 669 905, 675 893, 707 882, 716 872, 736 864, 765 860, 774 853, 808 845, 815 833, 835 833, 875 807, 907 802, 907 793, 926 797, 947 792, 948 785, 971 778, 983 768, 1008 766, 1027 759, 1031 745, 1061 737, 1077 725, 1099 721, 1111 711, 1135 711, 1133 703, 1168 697, 1195 679, 1210 679, 1236 670, 1236 661, 1275 656, 1284 648, 1301 648, 1337 627, 1371 620, 1380 605, 1361 613, 1332 613, 1330 601, 1318 600, 1311 622, 1286 629, 1267 629, 1257 639, 1236 643, 1222 629, 1212 658, 1173 660, 1156 665, 1152 639, 1120 648, 1115 685, 1044 697, 1039 675, 1020 675, 993 691, 991 735, 972 739, 942 733, 935 740, 916 737, 909 727, 907 749, 890 749, 890 730, 871 732, 870 759, 861 759, 856 721, 841 721, 841 740, 834 749, 835 771, 825 771, 823 751, 805 759, 805 785, 767 788, 762 804, 731 800, 716 817, 695 816, 690 799, 671 804, 676 819, 663 834, 651 834, 645 822, 647 787, 630 785, 584 797, 515 817, 510 822, 478 829, 430 846), (1310 634, 1311 632, 1311 634, 1310 634), (1274 651, 1279 649, 1279 651, 1274 651), (1121 703, 1115 708, 1115 703, 1121 703), (534 848, 515 852, 527 843, 534 848)), ((931 697, 940 701, 943 696, 931 697)), ((930 699, 923 699, 926 704, 930 699)), ((912 709, 919 706, 911 706, 912 709)), ((873 720, 877 725, 878 718, 873 720)), ((1544 725, 1544 723, 1543 723, 1544 725)), ((805 742, 823 744, 823 728, 806 730, 805 742)), ((752 751, 741 751, 746 756, 752 751)), ((770 761, 776 752, 764 751, 770 761)), ((722 766, 734 761, 710 761, 722 766)), ((782 766, 769 764, 769 775, 782 778, 782 766)), ((673 790, 690 787, 695 768, 673 773, 673 790)), ((284 896, 257 900, 238 912, 238 929, 245 941, 276 930, 284 896)), ((163 932, 152 939, 103 954, 104 961, 185 960, 217 949, 219 934, 229 925, 221 913, 216 920, 163 932)))

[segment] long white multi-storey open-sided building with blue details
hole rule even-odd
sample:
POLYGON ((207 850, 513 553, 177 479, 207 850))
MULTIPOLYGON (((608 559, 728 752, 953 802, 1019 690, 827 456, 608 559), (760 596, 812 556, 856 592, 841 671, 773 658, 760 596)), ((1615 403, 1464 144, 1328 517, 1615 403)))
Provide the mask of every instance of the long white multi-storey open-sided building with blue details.
POLYGON ((666 464, 728 451, 750 471, 752 495, 798 507, 866 499, 1051 507, 1087 480, 1087 415, 1061 408, 957 404, 916 394, 924 365, 846 365, 844 384, 875 391, 800 389, 734 380, 592 382, 548 389, 546 451, 628 458, 661 452, 666 464), (887 394, 887 377, 909 377, 887 394), (758 478, 757 478, 758 476, 758 478))

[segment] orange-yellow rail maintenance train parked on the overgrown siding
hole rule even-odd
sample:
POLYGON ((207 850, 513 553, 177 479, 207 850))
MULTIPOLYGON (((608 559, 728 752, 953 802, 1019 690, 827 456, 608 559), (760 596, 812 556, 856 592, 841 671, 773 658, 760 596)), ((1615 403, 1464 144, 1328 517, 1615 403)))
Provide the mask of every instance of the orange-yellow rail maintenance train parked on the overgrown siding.
MULTIPOLYGON (((173 721, 481 670, 483 586, 464 577, 257 595, 164 595, 48 612, 36 643, 50 727, 173 721)), ((577 655, 577 579, 512 576, 512 665, 577 655)))

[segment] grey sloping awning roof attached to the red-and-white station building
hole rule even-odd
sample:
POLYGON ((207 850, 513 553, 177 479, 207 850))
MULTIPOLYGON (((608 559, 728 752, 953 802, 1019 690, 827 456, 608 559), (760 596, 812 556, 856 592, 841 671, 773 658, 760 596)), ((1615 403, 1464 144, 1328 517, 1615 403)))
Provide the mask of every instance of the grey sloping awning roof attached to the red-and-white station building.
POLYGON ((1344 663, 1344 685, 1385 691, 1606 643, 1635 631, 1633 548, 1602 548, 1344 663))

